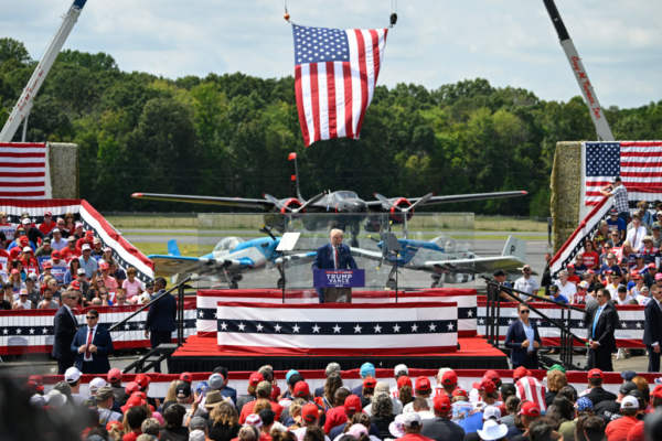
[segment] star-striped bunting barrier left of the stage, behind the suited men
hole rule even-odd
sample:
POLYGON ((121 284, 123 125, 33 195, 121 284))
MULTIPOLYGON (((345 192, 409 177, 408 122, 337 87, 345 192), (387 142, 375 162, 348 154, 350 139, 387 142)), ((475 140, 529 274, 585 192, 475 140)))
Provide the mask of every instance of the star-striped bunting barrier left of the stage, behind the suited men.
MULTIPOLYGON (((99 325, 106 329, 131 315, 140 304, 126 306, 98 306, 99 325)), ((76 315, 78 325, 85 324, 85 308, 76 315)), ((195 334, 195 300, 184 302, 184 337, 195 334)), ((53 348, 53 318, 57 310, 0 311, 0 356, 19 354, 50 354, 53 348)), ((113 331, 115 349, 150 347, 145 338, 147 310, 129 320, 121 330, 113 331)), ((177 341, 177 331, 172 333, 177 341)))

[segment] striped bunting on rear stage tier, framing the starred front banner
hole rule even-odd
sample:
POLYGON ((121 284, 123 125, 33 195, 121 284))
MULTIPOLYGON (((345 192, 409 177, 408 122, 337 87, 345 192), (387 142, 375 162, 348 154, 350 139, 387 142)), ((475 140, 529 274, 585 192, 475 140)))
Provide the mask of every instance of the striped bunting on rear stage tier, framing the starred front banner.
MULTIPOLYGON (((218 302, 255 302, 282 304, 280 290, 199 290, 197 291, 197 335, 216 337, 216 315, 218 302)), ((286 304, 318 303, 314 290, 288 290, 286 304)), ((392 291, 353 291, 353 303, 395 303, 392 291)), ((474 289, 437 288, 398 293, 398 302, 456 302, 458 304, 458 336, 470 337, 477 334, 477 292, 474 289)))

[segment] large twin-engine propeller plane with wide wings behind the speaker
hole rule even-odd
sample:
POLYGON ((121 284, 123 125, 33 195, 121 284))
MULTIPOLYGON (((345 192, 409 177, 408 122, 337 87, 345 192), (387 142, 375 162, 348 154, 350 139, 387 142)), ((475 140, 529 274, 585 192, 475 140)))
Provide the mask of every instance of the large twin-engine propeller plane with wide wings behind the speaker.
POLYGON ((406 229, 406 223, 414 216, 414 208, 434 204, 446 204, 452 202, 491 200, 500 197, 525 196, 524 191, 496 192, 496 193, 476 193, 458 194, 448 196, 435 196, 429 193, 424 197, 385 197, 375 193, 377 201, 364 201, 355 192, 335 191, 320 193, 311 200, 306 201, 299 190, 299 168, 297 164, 297 153, 290 153, 288 157, 290 163, 290 197, 278 200, 270 194, 264 194, 263 198, 245 197, 215 197, 215 196, 186 196, 175 194, 156 194, 156 193, 134 193, 131 197, 153 201, 188 202, 194 204, 213 204, 235 207, 258 208, 265 213, 264 224, 277 232, 285 233, 291 218, 301 217, 306 229, 312 232, 320 227, 340 228, 343 232, 350 230, 350 245, 359 246, 357 236, 361 232, 361 222, 365 220, 364 229, 366 232, 381 232, 385 223, 383 214, 389 217, 389 224, 403 224, 406 229), (323 216, 311 214, 319 213, 323 216), (328 214, 333 214, 332 220, 329 220, 328 214), (382 214, 382 215, 380 215, 382 214))

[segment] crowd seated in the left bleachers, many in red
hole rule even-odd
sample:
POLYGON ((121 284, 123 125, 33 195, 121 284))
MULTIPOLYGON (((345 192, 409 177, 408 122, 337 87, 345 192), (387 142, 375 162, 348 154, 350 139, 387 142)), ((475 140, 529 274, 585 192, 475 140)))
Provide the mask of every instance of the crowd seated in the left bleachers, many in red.
POLYGON ((78 293, 78 310, 146 303, 154 293, 152 283, 137 279, 136 268, 125 271, 113 249, 71 213, 53 220, 46 211, 38 226, 24 212, 12 226, 1 212, 0 241, 0 310, 60 309, 66 290, 78 293))

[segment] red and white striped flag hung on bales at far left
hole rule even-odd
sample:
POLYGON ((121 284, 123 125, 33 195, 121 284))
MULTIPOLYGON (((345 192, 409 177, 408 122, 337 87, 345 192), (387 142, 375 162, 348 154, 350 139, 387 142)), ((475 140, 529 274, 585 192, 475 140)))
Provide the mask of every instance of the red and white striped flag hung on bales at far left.
POLYGON ((0 197, 47 197, 46 144, 0 142, 0 197))

